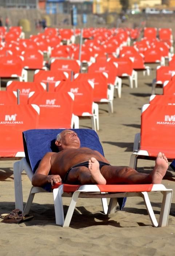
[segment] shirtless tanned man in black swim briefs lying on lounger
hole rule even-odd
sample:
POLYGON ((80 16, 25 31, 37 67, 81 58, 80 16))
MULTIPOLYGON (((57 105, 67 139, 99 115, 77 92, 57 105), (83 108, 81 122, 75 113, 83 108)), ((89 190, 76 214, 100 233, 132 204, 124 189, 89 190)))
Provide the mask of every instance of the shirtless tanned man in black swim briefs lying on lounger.
POLYGON ((57 135, 58 153, 48 152, 32 178, 32 185, 47 182, 68 184, 160 184, 168 169, 166 156, 159 152, 150 174, 138 173, 130 167, 111 166, 96 150, 80 147, 76 132, 65 129, 57 135))

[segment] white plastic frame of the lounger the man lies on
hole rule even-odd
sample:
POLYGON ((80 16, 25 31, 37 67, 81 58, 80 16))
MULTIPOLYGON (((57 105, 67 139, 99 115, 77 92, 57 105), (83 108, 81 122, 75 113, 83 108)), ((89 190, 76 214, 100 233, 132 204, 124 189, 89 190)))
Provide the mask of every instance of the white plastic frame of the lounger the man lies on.
MULTIPOLYGON (((29 179, 32 180, 33 172, 25 158, 21 159, 21 161, 14 163, 15 204, 16 204, 16 208, 19 208, 22 211, 23 211, 23 193, 22 193, 21 173, 23 172, 23 170, 25 170, 29 179)), ((119 186, 122 186, 122 185, 119 185, 119 186)), ((123 185, 123 186, 126 186, 126 185, 123 185)), ((131 187, 131 186, 134 187, 135 185, 128 185, 128 187, 131 187)), ((53 199, 54 199, 55 217, 56 217, 57 225, 61 225, 63 227, 69 226, 78 197, 102 198, 104 213, 110 214, 110 213, 115 213, 118 198, 125 197, 125 196, 126 197, 139 196, 143 198, 151 223, 154 227, 163 227, 163 226, 167 226, 168 224, 168 216, 169 216, 171 200, 172 200, 172 189, 167 189, 162 184, 152 185, 152 188, 151 188, 151 192, 160 191, 163 194, 162 205, 161 205, 158 222, 155 218, 154 211, 152 210, 152 206, 151 206, 147 192, 139 191, 139 192, 122 192, 122 193, 114 193, 114 192, 104 193, 104 192, 100 192, 98 185, 81 185, 75 192, 69 193, 69 194, 64 193, 63 189, 64 189, 64 184, 60 185, 58 188, 53 189, 53 199), (69 205, 65 219, 64 219, 64 212, 63 212, 63 202, 62 202, 63 196, 69 196, 69 197, 72 196, 71 203, 69 205), (110 198, 109 207, 107 206, 107 198, 110 198)), ((39 187, 31 188, 31 192, 29 194, 28 201, 24 209, 25 214, 28 214, 31 208, 31 204, 35 196, 35 193, 39 193, 39 192, 46 192, 46 191, 43 188, 39 188, 39 187)))

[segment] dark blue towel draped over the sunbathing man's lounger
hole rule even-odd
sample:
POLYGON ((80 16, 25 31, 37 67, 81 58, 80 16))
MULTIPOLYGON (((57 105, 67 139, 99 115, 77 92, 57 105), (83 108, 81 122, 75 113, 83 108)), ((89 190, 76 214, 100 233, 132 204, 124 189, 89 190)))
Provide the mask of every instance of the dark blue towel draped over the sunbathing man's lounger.
MULTIPOLYGON (((41 159, 47 152, 58 152, 55 145, 55 138, 64 129, 31 129, 23 132, 23 143, 25 158, 33 173, 35 173, 41 159)), ((80 139, 81 147, 88 147, 97 150, 104 156, 103 147, 99 141, 98 134, 92 129, 71 129, 75 131, 80 139)), ((43 187, 51 191, 51 184, 43 187)), ((126 198, 119 198, 120 210, 124 207, 126 198)))

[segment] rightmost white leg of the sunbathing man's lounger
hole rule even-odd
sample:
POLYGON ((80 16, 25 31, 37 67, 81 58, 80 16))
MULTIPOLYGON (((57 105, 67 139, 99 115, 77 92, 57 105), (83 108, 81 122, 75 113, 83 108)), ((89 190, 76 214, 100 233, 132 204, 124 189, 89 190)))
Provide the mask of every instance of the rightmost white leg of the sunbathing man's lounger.
POLYGON ((170 213, 172 191, 161 191, 163 194, 162 207, 160 210, 159 227, 165 227, 168 225, 168 217, 170 213))

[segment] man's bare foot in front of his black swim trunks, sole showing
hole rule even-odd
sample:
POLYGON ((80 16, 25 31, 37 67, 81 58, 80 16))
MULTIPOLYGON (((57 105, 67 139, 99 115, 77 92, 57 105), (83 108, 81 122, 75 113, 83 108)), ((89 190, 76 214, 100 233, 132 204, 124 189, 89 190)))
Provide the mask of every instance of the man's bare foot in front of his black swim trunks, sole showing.
POLYGON ((103 177, 103 175, 100 173, 99 169, 99 162, 97 161, 96 158, 91 157, 89 160, 89 166, 88 166, 90 173, 92 175, 92 178, 95 180, 95 182, 99 185, 105 185, 106 180, 103 177))

